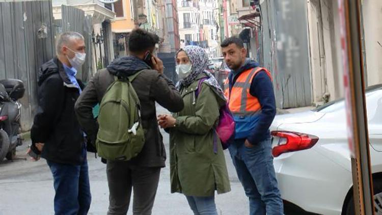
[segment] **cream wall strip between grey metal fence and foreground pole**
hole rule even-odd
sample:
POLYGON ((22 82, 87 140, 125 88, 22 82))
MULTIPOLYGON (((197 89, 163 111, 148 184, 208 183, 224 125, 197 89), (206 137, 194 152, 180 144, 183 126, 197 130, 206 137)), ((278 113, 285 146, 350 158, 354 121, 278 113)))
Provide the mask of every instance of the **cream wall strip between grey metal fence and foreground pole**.
POLYGON ((308 1, 313 103, 343 97, 343 68, 337 1, 308 1))

